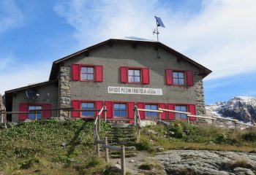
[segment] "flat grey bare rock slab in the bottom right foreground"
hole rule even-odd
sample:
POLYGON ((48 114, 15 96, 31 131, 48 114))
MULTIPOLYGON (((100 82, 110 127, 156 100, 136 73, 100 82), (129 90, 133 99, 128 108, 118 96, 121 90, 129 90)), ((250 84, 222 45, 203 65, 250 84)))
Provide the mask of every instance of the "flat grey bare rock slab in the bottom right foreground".
POLYGON ((235 175, 256 174, 256 154, 244 152, 211 152, 172 150, 155 157, 167 174, 235 175))

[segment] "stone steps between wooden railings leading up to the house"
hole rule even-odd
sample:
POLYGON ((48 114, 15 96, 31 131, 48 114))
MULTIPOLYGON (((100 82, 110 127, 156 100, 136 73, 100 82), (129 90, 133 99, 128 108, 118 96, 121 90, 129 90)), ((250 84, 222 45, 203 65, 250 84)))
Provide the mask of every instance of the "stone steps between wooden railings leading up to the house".
MULTIPOLYGON (((136 136, 131 125, 118 124, 112 125, 111 131, 105 134, 108 137, 108 144, 113 146, 125 146, 125 157, 130 158, 137 155, 135 148, 136 136)), ((110 151, 110 158, 120 158, 120 152, 110 151)))

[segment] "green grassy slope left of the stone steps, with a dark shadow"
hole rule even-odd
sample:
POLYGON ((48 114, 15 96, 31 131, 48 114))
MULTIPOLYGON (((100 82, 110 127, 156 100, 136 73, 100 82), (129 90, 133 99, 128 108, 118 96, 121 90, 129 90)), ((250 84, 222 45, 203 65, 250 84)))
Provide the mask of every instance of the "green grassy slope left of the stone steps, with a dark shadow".
MULTIPOLYGON (((93 123, 43 120, 0 130, 0 172, 5 174, 103 174, 94 156, 93 123)), ((102 123, 102 133, 110 125, 102 123)))

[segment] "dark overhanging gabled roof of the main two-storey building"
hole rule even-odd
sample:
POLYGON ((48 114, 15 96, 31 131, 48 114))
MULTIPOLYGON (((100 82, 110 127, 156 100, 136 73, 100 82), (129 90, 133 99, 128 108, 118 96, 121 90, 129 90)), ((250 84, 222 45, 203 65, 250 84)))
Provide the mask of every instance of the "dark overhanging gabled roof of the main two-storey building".
POLYGON ((59 66, 64 61, 68 61, 69 59, 75 58, 78 55, 86 54, 86 52, 89 52, 90 50, 93 50, 94 48, 99 47, 103 44, 113 44, 114 42, 127 42, 127 43, 132 43, 132 44, 137 44, 137 43, 138 44, 139 43, 140 44, 153 44, 155 47, 162 47, 165 50, 172 52, 173 55, 176 55, 178 58, 181 58, 181 59, 191 63, 194 66, 197 66, 201 70, 200 74, 203 77, 206 77, 208 74, 211 73, 210 69, 207 69, 205 66, 202 66, 200 63, 197 63, 197 62, 193 61, 192 59, 188 58, 187 56, 181 54, 180 52, 173 50, 172 48, 168 47, 167 45, 162 44, 162 42, 157 42, 157 41, 148 40, 148 39, 140 39, 140 38, 136 38, 136 37, 127 37, 124 39, 108 39, 104 42, 99 42, 98 44, 94 44, 91 47, 87 47, 86 49, 80 50, 78 52, 72 53, 71 55, 67 55, 64 58, 60 58, 57 61, 54 61, 53 65, 52 65, 52 69, 50 71, 49 80, 56 79, 56 76, 59 71, 59 66))

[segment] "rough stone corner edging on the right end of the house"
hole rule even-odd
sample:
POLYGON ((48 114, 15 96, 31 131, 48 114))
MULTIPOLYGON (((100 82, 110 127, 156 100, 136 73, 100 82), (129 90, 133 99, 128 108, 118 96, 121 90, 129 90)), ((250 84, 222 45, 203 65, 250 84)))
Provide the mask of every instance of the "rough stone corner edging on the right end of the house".
POLYGON ((205 96, 203 90, 203 80, 202 77, 198 75, 199 72, 195 71, 194 80, 195 80, 195 105, 197 108, 197 114, 206 114, 205 106, 205 96))

